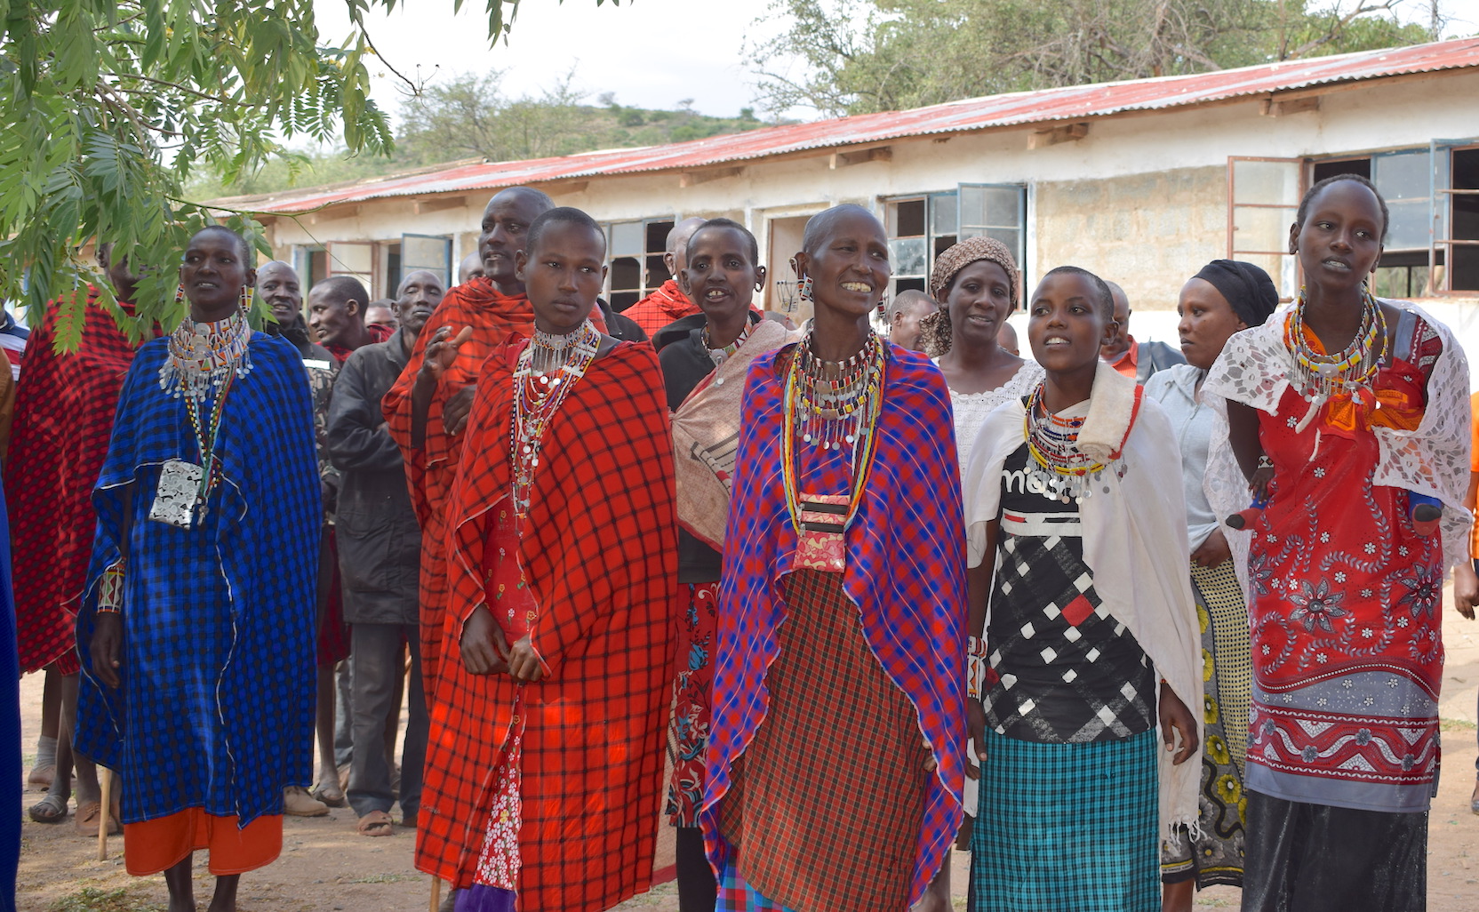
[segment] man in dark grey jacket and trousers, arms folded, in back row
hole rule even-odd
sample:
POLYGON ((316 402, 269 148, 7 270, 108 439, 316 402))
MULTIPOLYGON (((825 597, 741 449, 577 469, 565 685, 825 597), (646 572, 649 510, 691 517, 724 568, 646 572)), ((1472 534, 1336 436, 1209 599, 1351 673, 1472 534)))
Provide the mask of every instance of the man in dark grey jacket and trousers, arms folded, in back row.
MULTIPOLYGON (((367 837, 390 835, 387 724, 399 717, 402 647, 419 643, 417 574, 422 531, 405 486, 401 451, 390 439, 380 399, 395 384, 416 336, 445 290, 435 273, 417 270, 401 281, 395 312, 401 328, 386 341, 362 346, 339 371, 328 405, 328 454, 342 473, 339 491, 339 568, 353 662, 353 761, 349 806, 367 837)), ((426 757, 426 699, 420 650, 411 649, 405 687, 410 723, 401 752, 402 823, 416 826, 426 757)))

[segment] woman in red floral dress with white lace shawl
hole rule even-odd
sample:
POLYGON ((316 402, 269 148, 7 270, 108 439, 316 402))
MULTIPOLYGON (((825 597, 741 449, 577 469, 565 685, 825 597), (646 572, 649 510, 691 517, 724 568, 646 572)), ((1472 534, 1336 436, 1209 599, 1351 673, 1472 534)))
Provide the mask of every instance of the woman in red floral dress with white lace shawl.
POLYGON ((1245 911, 1424 908, 1469 371, 1446 327, 1367 290, 1386 226, 1365 179, 1316 183, 1290 229, 1300 299, 1235 336, 1205 383, 1270 498, 1248 560, 1245 911), (1414 526, 1414 494, 1442 501, 1439 534, 1414 526))

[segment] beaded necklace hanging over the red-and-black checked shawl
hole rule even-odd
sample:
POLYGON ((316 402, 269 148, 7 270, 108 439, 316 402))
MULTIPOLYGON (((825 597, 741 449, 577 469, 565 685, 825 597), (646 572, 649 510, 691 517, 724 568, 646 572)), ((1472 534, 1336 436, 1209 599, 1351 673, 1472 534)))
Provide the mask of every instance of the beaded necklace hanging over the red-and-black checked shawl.
POLYGON ((587 319, 574 333, 535 331, 513 370, 513 420, 509 457, 513 463, 513 513, 529 514, 529 492, 540 466, 544 433, 575 381, 586 375, 600 349, 600 331, 587 319))

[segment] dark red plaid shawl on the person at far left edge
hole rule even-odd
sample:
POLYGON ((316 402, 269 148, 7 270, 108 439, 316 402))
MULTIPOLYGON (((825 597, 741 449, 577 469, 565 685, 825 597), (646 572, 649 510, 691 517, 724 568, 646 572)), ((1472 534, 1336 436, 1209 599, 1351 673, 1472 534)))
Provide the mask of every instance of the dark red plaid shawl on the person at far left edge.
POLYGON ((74 625, 87 576, 98 482, 118 387, 133 346, 112 316, 93 306, 87 288, 83 337, 75 352, 52 352, 58 304, 31 334, 10 429, 4 486, 15 548, 15 615, 21 671, 58 662, 77 671, 74 625))

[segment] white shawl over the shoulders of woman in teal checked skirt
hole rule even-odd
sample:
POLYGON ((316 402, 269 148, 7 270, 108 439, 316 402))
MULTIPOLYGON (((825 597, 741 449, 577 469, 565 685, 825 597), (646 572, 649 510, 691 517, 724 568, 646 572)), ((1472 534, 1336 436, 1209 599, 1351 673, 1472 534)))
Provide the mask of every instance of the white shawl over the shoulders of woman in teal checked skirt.
MULTIPOLYGON (((1094 374, 1089 417, 1080 432, 1103 446, 1118 438, 1134 402, 1134 381, 1103 364, 1094 374)), ((976 438, 964 476, 966 540, 970 566, 985 559, 986 523, 1001 514, 1001 469, 1023 443, 1021 401, 997 408, 976 438)), ((1089 443, 1084 440, 1084 443, 1089 443)), ((1182 498, 1182 461, 1176 433, 1151 399, 1124 439, 1124 477, 1105 472, 1093 495, 1078 507, 1084 532, 1084 563, 1094 575, 1103 606, 1124 622, 1155 664, 1155 673, 1202 729, 1201 628, 1192 600, 1191 553, 1186 542, 1186 507, 1182 498), (1109 488, 1109 494, 1103 488, 1109 488)), ((992 560, 995 557, 992 556, 992 560)), ((989 622, 989 606, 988 606, 989 622)), ((1201 758, 1180 766, 1158 746, 1161 832, 1197 826, 1197 789, 1201 758)), ((986 761, 989 763, 989 760, 986 761)))

